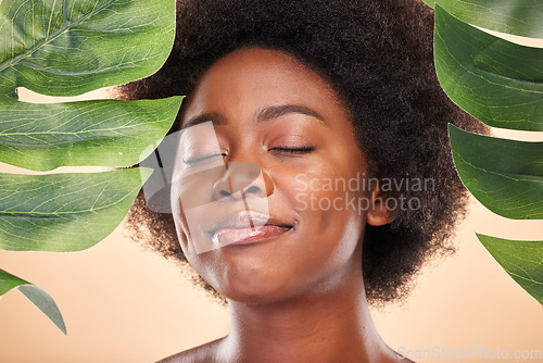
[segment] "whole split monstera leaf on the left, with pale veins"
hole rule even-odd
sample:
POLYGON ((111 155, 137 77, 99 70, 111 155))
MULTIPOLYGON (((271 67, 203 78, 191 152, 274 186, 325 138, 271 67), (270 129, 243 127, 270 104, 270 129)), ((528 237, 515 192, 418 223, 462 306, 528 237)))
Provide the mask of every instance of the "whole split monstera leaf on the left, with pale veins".
MULTIPOLYGON (((25 103, 17 88, 77 96, 149 76, 167 59, 175 0, 3 0, 0 3, 0 162, 34 170, 125 167, 172 126, 181 98, 25 103)), ((152 150, 148 151, 152 152, 152 150)), ((0 249, 68 252, 106 237, 150 171, 0 174, 0 249)), ((54 301, 0 271, 66 333, 54 301)))

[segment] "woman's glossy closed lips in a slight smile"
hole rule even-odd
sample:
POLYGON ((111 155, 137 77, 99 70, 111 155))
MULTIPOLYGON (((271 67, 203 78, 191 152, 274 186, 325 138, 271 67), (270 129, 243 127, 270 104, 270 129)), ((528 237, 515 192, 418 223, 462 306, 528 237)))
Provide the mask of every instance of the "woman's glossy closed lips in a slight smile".
POLYGON ((292 227, 293 225, 273 216, 240 211, 219 220, 206 233, 212 235, 212 240, 218 245, 250 245, 274 239, 292 227))

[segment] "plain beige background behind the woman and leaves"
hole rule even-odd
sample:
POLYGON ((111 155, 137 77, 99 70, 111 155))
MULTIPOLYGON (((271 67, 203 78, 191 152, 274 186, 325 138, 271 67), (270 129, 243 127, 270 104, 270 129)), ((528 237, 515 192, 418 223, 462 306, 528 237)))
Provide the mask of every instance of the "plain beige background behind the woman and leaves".
MULTIPOLYGON (((543 133, 497 130, 495 135, 543 140, 543 133)), ((0 172, 22 170, 0 164, 0 172)), ((543 221, 509 221, 475 201, 472 205, 456 239, 457 253, 426 268, 404 305, 372 311, 378 330, 392 349, 483 349, 508 351, 509 355, 515 350, 543 349, 542 306, 475 237, 479 231, 541 240, 543 221)), ((56 301, 68 331, 64 336, 23 295, 12 290, 0 299, 0 362, 151 362, 228 331, 227 309, 193 288, 179 267, 131 241, 123 226, 83 252, 0 251, 0 267, 46 289, 56 301)), ((473 355, 471 360, 418 361, 543 359, 473 355)))

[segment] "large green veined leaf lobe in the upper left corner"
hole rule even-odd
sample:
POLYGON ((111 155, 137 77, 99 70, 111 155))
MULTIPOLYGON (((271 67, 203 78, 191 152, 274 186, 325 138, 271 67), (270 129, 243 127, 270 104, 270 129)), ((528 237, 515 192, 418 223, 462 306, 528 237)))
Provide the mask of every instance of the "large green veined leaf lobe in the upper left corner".
POLYGON ((3 0, 0 96, 75 96, 149 76, 174 36, 173 0, 3 0))

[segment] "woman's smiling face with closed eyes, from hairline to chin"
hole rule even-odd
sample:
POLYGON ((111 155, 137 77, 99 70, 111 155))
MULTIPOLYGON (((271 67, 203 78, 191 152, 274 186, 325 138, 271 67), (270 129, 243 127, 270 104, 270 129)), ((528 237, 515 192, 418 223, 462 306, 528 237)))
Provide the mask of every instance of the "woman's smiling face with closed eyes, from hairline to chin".
MULTIPOLYGON (((188 130, 180 148, 186 154, 177 157, 176 168, 190 170, 194 166, 187 162, 217 157, 230 165, 229 172, 218 167, 202 174, 206 179, 193 183, 188 193, 185 187, 186 195, 209 203, 195 213, 215 227, 189 228, 182 210, 187 202, 176 200, 182 204, 175 215, 182 250, 218 292, 236 301, 278 301, 332 288, 354 271, 362 275, 361 236, 368 209, 359 210, 358 201, 374 193, 355 187, 366 176, 364 154, 350 115, 317 74, 279 51, 235 51, 201 77, 181 122, 188 130), (186 127, 209 121, 215 135, 191 134, 198 126, 186 127), (205 150, 217 142, 218 152, 205 150), (260 167, 262 183, 249 175, 254 168, 236 170, 237 162, 260 167), (247 176, 247 199, 231 195, 228 173, 231 180, 247 176), (248 205, 255 213, 263 212, 258 205, 267 209, 269 220, 261 234, 249 236, 251 230, 236 224, 248 205), (198 253, 194 235, 222 247, 198 253)), ((369 213, 379 224, 371 209, 369 213)))

